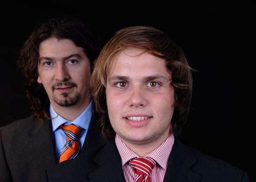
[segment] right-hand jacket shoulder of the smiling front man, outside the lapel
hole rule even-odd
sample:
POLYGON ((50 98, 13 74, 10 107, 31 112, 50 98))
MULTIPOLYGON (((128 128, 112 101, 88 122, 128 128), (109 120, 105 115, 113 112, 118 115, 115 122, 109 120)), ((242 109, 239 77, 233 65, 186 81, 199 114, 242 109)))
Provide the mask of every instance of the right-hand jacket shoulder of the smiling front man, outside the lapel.
POLYGON ((238 167, 185 146, 178 139, 174 145, 174 152, 176 157, 191 171, 206 179, 205 181, 249 181, 247 173, 238 167))

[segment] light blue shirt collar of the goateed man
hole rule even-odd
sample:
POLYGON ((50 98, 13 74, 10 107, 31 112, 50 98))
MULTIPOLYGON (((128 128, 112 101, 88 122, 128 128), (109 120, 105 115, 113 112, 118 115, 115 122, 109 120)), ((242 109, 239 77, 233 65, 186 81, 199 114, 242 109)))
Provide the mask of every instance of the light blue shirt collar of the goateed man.
POLYGON ((84 129, 88 129, 89 123, 91 120, 91 108, 92 108, 92 102, 90 101, 88 107, 73 121, 68 121, 64 119, 61 115, 56 113, 50 105, 50 116, 52 119, 52 131, 54 132, 57 128, 59 128, 62 124, 68 125, 68 124, 76 124, 84 129))

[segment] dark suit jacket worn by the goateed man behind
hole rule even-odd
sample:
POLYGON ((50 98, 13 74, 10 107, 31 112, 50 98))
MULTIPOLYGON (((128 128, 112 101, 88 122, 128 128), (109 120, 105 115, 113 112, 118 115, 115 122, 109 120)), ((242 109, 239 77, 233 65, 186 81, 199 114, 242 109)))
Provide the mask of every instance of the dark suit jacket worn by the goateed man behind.
MULTIPOLYGON (((92 114, 80 153, 104 142, 92 114)), ((30 116, 0 128, 0 181, 41 181, 42 172, 58 163, 50 120, 30 116)))

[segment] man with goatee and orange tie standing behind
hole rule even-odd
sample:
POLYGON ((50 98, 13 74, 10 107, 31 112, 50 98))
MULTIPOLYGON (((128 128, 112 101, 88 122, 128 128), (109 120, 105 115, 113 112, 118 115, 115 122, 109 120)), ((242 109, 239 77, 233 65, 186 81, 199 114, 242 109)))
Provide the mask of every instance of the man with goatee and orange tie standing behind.
POLYGON ((41 181, 46 167, 104 142, 89 84, 98 52, 79 20, 49 19, 32 32, 18 66, 33 115, 0 128, 0 181, 41 181))

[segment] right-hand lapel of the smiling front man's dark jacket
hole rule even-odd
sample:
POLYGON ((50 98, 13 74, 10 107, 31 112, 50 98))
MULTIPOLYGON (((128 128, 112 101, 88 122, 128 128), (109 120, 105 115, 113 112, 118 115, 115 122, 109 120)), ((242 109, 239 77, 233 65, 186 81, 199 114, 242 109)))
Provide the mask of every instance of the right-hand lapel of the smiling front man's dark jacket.
POLYGON ((187 147, 181 144, 176 137, 168 160, 167 171, 164 181, 172 182, 197 182, 201 176, 190 170, 197 162, 194 155, 187 147))

